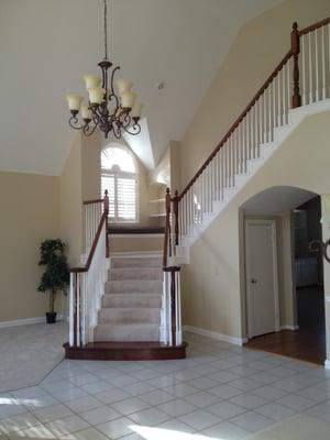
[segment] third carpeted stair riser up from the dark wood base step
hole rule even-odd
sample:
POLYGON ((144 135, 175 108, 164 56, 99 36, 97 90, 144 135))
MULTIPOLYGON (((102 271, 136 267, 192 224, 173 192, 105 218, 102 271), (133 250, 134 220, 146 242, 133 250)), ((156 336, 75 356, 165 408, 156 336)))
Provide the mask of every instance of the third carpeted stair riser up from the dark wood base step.
POLYGON ((153 307, 162 306, 161 295, 105 295, 102 297, 102 307, 123 308, 123 307, 153 307))

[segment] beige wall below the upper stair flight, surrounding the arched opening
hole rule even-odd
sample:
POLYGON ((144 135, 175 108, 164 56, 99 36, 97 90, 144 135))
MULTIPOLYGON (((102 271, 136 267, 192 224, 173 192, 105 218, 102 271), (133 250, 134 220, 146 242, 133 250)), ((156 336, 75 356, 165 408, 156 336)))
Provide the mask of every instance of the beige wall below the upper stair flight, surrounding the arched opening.
MULTIPOLYGON (((306 119, 193 245, 190 264, 183 271, 186 324, 238 338, 245 336, 239 209, 252 196, 273 186, 330 193, 329 118, 330 112, 324 112, 306 119)), ((326 265, 330 279, 329 271, 326 265)), ((326 292, 330 292, 330 284, 326 292)))

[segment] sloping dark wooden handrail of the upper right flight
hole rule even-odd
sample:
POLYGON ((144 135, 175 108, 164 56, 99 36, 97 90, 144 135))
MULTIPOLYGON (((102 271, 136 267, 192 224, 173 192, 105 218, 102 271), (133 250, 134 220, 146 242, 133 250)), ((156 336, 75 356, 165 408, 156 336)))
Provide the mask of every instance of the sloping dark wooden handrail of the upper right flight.
POLYGON ((188 183, 188 185, 185 187, 183 193, 179 196, 179 200, 184 197, 184 195, 191 188, 191 186, 195 184, 195 182, 198 179, 198 177, 201 175, 201 173, 205 170, 205 168, 209 165, 209 163, 212 161, 212 158, 217 155, 217 153, 220 151, 220 148, 223 146, 228 138, 233 133, 233 131, 239 127, 239 124, 242 122, 242 120, 245 118, 245 116, 249 113, 249 111, 252 109, 252 107, 255 105, 255 102, 258 100, 258 98, 263 95, 263 92, 266 90, 266 88, 270 86, 270 84, 273 81, 273 79, 278 75, 278 73, 282 70, 283 66, 288 62, 288 59, 293 56, 292 50, 285 55, 285 57, 282 59, 280 63, 276 66, 276 68, 273 70, 273 73, 268 76, 268 78, 265 80, 263 86, 258 89, 256 95, 252 98, 250 103, 246 106, 246 108, 242 111, 242 113, 239 116, 239 118, 234 121, 234 123, 231 125, 231 128, 228 130, 228 132, 224 134, 220 143, 217 145, 217 147, 212 151, 212 153, 209 155, 209 157, 205 161, 205 163, 201 165, 201 167, 198 169, 198 172, 195 174, 193 179, 188 183))

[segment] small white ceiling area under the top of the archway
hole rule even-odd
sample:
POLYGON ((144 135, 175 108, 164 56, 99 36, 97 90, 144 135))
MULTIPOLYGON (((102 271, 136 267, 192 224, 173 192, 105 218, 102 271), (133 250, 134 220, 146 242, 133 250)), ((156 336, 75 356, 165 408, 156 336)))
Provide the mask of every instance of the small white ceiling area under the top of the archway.
POLYGON ((293 186, 274 186, 253 196, 242 208, 248 215, 276 216, 292 211, 316 196, 293 186))

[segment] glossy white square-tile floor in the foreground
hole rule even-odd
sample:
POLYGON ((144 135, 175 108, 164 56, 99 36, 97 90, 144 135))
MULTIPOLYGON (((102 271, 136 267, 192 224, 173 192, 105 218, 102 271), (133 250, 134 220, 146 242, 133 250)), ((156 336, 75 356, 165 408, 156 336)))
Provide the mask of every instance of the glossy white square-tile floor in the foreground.
POLYGON ((314 440, 330 438, 330 371, 190 333, 186 340, 186 360, 63 361, 40 385, 0 394, 0 440, 277 439, 260 431, 304 426, 297 416, 329 427, 329 437, 314 440))

